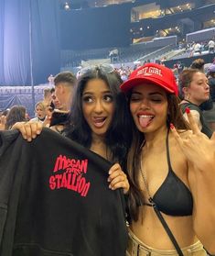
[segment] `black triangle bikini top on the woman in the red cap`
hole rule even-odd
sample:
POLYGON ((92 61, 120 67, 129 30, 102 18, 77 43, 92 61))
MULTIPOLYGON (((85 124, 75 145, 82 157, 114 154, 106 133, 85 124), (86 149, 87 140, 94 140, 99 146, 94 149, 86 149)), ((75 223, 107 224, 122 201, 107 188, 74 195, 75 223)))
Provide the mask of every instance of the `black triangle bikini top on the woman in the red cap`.
MULTIPOLYGON (((189 216, 192 215, 193 198, 188 189, 172 170, 169 147, 168 133, 166 139, 167 145, 167 178, 161 184, 156 194, 153 196, 153 201, 159 211, 169 216, 189 216)), ((147 205, 147 204, 146 204, 147 205)))

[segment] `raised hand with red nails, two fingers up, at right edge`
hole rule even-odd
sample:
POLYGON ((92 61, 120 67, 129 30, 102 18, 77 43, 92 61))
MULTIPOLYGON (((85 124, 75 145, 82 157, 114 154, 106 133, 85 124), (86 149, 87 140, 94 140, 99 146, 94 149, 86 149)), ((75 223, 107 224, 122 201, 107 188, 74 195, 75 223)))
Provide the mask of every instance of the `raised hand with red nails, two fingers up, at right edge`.
POLYGON ((182 138, 177 133, 176 128, 171 125, 170 128, 174 138, 177 140, 177 144, 185 154, 187 160, 192 162, 195 168, 202 171, 211 170, 215 166, 215 132, 211 139, 209 139, 205 134, 200 132, 189 108, 186 109, 186 112, 191 131, 187 137, 182 138))

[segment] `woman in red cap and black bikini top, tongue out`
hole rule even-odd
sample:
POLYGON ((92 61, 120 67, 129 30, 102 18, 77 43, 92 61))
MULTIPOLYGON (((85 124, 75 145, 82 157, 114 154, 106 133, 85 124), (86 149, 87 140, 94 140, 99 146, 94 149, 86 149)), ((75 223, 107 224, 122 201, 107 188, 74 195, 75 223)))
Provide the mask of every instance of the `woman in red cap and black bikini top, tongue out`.
POLYGON ((189 109, 189 125, 183 118, 167 67, 147 63, 121 89, 134 120, 127 255, 214 254, 215 136, 199 131, 189 109))

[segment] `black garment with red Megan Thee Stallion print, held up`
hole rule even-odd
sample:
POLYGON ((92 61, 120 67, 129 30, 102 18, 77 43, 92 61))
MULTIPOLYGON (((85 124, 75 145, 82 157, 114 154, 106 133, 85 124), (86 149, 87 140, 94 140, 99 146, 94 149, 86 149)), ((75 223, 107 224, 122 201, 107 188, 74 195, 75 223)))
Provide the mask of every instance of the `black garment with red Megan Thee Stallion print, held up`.
POLYGON ((124 256, 122 190, 111 163, 45 128, 0 133, 1 256, 124 256))

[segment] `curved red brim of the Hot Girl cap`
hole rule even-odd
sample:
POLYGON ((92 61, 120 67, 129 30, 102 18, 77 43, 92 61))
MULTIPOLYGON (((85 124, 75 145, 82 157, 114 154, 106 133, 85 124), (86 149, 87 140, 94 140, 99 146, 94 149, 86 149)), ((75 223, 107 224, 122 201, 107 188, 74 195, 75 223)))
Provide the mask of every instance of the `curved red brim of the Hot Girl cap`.
POLYGON ((129 91, 131 91, 135 86, 137 85, 140 85, 140 84, 143 84, 143 83, 153 83, 153 84, 156 84, 160 87, 162 87, 163 89, 165 89, 168 93, 171 93, 171 94, 175 94, 175 91, 174 90, 171 90, 169 88, 167 88, 167 86, 163 83, 160 83, 160 81, 156 80, 155 78, 150 78, 150 79, 147 79, 145 77, 138 77, 138 78, 133 78, 133 79, 129 79, 127 80, 126 82, 122 83, 121 86, 120 86, 120 89, 125 93, 127 94, 129 91))

